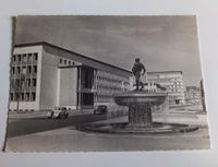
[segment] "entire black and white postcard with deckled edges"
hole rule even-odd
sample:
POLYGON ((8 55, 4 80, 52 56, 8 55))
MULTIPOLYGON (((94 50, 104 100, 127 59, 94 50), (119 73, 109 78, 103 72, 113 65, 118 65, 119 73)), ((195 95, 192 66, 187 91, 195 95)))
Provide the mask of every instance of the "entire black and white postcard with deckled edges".
POLYGON ((209 150, 195 15, 13 17, 4 152, 209 150))

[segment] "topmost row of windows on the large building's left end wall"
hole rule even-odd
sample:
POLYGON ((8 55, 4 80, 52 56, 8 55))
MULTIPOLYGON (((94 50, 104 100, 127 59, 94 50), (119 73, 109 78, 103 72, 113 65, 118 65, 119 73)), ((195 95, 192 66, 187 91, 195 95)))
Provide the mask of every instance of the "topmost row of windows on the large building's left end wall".
POLYGON ((38 52, 13 55, 12 62, 32 62, 38 60, 38 52))

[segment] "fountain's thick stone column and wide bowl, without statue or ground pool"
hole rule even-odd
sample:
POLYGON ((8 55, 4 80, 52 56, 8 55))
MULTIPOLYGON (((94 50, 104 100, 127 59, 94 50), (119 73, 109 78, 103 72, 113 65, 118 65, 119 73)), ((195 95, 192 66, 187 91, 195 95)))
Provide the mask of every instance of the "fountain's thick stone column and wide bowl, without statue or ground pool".
POLYGON ((129 127, 147 128, 152 127, 152 107, 164 104, 167 93, 133 91, 116 95, 116 104, 129 107, 129 127))

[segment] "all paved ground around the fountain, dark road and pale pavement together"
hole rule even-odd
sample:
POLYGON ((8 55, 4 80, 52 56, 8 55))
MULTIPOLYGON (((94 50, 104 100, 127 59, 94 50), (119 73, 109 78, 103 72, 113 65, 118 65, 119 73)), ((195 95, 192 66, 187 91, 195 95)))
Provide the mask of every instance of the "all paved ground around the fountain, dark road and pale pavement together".
MULTIPOLYGON (((21 116, 21 115, 19 115, 21 116)), ((76 126, 92 122, 126 122, 128 117, 107 119, 85 112, 68 119, 10 118, 7 152, 94 152, 209 148, 206 115, 154 114, 154 121, 199 124, 199 130, 173 134, 110 134, 78 131, 76 126)))

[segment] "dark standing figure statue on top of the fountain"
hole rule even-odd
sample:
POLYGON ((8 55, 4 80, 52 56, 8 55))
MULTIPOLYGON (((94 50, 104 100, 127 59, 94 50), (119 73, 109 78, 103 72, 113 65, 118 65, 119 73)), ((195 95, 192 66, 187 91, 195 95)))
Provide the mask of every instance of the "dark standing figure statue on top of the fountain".
POLYGON ((134 63, 134 65, 132 68, 132 72, 133 72, 133 74, 135 76, 135 82, 136 82, 135 91, 143 90, 144 85, 143 85, 142 81, 140 80, 140 77, 141 77, 141 74, 142 75, 145 74, 146 69, 145 69, 144 64, 142 62, 140 62, 140 58, 135 59, 135 63, 134 63), (140 88, 140 85, 141 85, 141 88, 140 88))

